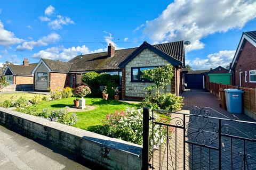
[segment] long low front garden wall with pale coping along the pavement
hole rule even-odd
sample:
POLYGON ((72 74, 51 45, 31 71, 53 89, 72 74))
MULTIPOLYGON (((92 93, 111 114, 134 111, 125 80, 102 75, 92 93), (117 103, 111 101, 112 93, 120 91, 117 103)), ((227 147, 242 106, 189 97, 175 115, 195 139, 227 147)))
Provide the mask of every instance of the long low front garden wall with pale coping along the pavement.
POLYGON ((142 147, 0 107, 0 124, 51 142, 107 169, 141 169, 142 147))

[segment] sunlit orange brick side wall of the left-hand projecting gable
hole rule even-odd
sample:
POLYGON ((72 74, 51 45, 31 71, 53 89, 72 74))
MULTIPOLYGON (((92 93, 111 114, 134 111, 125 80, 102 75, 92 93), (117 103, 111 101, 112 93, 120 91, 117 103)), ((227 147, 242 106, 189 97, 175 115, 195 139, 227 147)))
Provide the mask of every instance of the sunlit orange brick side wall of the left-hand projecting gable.
POLYGON ((70 74, 50 73, 50 88, 52 90, 70 87, 70 74))

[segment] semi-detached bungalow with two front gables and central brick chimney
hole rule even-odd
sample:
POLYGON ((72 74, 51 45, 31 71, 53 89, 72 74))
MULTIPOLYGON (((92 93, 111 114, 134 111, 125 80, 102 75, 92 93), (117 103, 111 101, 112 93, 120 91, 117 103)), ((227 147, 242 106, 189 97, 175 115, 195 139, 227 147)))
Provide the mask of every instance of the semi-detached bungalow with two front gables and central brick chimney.
POLYGON ((141 77, 143 70, 171 64, 174 77, 166 92, 180 95, 181 70, 185 65, 183 41, 150 45, 146 41, 139 47, 115 50, 109 44, 108 51, 79 55, 68 62, 41 59, 33 70, 35 90, 55 90, 75 87, 85 72, 105 72, 119 75, 122 98, 142 98, 143 88, 152 82, 141 77))

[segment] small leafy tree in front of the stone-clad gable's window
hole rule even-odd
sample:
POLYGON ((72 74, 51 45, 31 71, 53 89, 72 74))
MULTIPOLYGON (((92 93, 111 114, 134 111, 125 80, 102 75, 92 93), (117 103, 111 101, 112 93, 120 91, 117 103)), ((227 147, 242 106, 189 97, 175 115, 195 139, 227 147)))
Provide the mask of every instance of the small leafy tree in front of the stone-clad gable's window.
POLYGON ((156 95, 159 95, 161 89, 164 89, 168 84, 171 83, 173 77, 173 66, 167 64, 162 67, 156 67, 154 69, 143 71, 143 78, 152 80, 153 85, 148 86, 145 90, 156 90, 156 95))

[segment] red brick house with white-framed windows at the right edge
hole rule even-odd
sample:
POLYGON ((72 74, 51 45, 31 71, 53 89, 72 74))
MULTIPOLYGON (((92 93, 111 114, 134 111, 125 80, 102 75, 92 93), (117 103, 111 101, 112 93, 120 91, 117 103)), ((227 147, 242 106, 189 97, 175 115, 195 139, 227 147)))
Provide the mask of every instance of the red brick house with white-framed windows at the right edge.
POLYGON ((256 88, 256 31, 243 32, 229 73, 235 86, 256 88))

